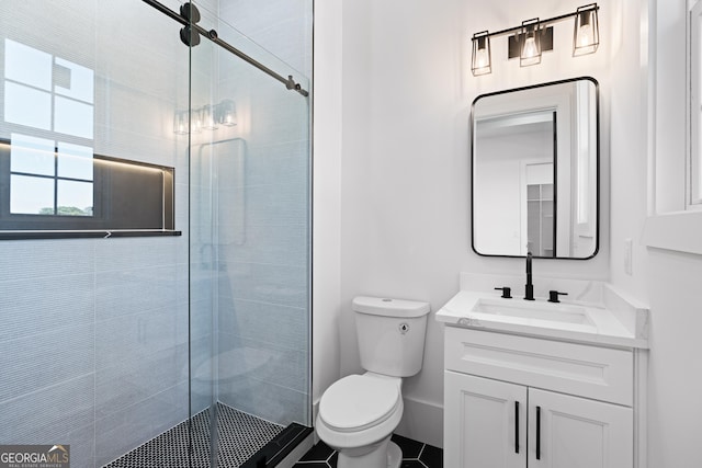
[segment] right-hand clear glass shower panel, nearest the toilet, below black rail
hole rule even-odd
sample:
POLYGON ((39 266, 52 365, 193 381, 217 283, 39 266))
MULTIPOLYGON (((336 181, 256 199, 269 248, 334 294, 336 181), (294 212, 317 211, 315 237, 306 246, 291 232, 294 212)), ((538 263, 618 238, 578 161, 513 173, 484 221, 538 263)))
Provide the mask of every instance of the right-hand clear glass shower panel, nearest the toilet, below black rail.
MULTIPOLYGON (((199 25, 303 75, 196 4, 199 25)), ((214 42, 190 49, 190 412, 211 466, 310 426, 309 100, 214 42)), ((197 455, 200 454, 200 455, 197 455)), ((259 454, 270 461, 271 454, 259 454)))

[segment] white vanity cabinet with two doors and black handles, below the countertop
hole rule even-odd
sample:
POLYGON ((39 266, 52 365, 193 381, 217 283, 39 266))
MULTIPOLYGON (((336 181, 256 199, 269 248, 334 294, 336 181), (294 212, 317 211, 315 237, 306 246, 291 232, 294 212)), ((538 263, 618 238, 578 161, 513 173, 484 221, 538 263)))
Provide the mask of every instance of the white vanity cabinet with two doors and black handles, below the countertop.
POLYGON ((633 468, 634 353, 445 328, 444 466, 633 468))

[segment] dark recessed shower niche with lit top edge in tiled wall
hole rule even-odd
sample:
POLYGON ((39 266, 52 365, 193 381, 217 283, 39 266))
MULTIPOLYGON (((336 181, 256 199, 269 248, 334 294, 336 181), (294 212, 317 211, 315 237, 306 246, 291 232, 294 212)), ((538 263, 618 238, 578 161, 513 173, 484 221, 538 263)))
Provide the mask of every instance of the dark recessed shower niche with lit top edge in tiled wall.
POLYGON ((173 175, 173 168, 13 135, 0 141, 0 231, 172 230, 173 175))

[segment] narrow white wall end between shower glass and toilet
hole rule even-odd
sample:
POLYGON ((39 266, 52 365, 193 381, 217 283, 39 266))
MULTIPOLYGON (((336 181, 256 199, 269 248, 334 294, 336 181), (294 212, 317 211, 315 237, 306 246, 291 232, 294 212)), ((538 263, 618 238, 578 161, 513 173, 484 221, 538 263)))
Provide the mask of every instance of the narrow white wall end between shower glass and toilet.
POLYGON ((313 403, 339 378, 341 0, 315 4, 313 403))

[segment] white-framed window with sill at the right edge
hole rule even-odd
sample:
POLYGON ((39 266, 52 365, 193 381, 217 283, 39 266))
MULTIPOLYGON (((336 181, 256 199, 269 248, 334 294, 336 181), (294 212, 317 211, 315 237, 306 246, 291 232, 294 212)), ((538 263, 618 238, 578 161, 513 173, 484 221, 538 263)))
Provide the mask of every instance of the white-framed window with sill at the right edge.
POLYGON ((702 255, 702 2, 698 1, 690 10, 688 3, 658 4, 656 16, 658 69, 650 72, 656 76, 656 107, 660 113, 680 109, 680 116, 687 105, 687 117, 666 114, 664 118, 672 122, 672 126, 657 125, 656 138, 664 142, 665 152, 657 150, 656 160, 660 169, 656 169, 656 187, 654 192, 655 212, 646 219, 643 243, 657 249, 702 255), (670 24, 681 27, 671 28, 670 24), (686 26, 687 24, 687 26, 686 26), (675 30, 675 31, 673 31, 675 30), (665 31, 665 33, 664 33, 665 31), (687 34, 687 37, 686 37, 687 34), (673 47, 679 47, 677 38, 687 38, 687 59, 684 53, 678 57, 673 47), (681 38, 681 37, 680 37, 681 38), (665 57, 661 68, 660 61, 665 57), (686 68, 687 90, 677 84, 677 77, 686 68), (665 72, 659 72, 665 70, 665 72), (671 72, 675 70, 676 72, 671 72), (675 78, 675 80, 673 80, 675 78), (687 104, 686 104, 687 102, 687 104), (668 105, 671 104, 671 105, 668 105), (687 121, 687 122, 684 122, 687 121), (686 125, 686 123, 688 125, 686 125), (677 144, 684 139, 678 136, 677 129, 687 126, 688 151, 679 149, 677 144), (686 162, 683 162, 686 161, 686 162), (684 185, 684 189, 680 189, 684 185), (665 197, 668 194, 673 196, 665 197), (664 198, 665 197, 665 198, 664 198), (663 199, 661 199, 663 198, 663 199), (678 202, 679 201, 679 202, 678 202), (688 208, 688 209, 683 209, 688 208))

